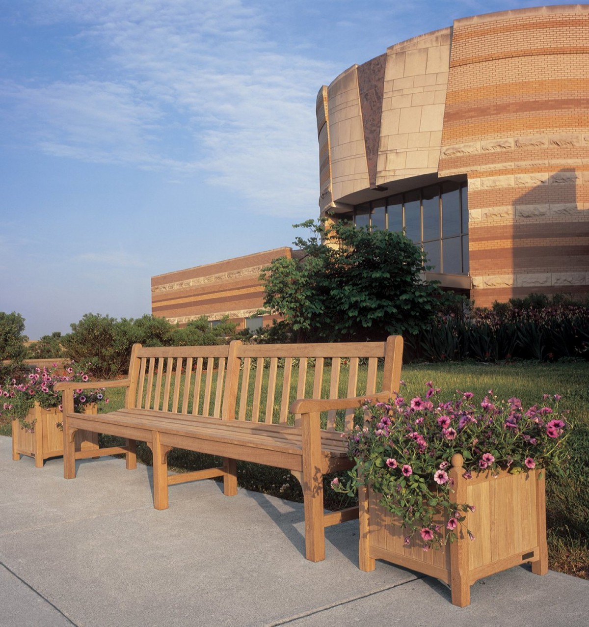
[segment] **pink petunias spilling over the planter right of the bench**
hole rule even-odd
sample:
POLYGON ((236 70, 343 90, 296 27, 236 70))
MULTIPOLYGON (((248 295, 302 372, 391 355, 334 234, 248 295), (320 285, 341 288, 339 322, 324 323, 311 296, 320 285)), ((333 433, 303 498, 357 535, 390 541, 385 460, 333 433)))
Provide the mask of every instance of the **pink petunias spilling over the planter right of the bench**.
POLYGON ((455 453, 464 458, 467 479, 479 472, 493 476, 533 468, 561 474, 567 457, 563 442, 571 429, 566 411, 558 409, 558 394, 529 408, 518 398, 498 401, 492 390, 482 401, 471 392, 439 398, 440 389, 428 382, 423 398, 367 404, 364 428, 345 435, 355 466, 347 482, 336 478, 331 484, 349 495, 370 485, 382 495, 380 505, 402 521, 405 544, 419 531, 424 550, 454 542, 467 512, 474 511, 453 498, 448 471, 455 453))

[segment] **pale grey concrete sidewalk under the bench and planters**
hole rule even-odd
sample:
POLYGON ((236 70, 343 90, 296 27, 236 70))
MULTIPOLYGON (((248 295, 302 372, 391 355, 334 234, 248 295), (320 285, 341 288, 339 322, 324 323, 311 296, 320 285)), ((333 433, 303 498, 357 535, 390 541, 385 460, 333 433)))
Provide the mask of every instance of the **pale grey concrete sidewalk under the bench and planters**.
POLYGON ((303 506, 202 481, 152 505, 151 468, 123 460, 35 468, 0 436, 0 625, 88 627, 589 624, 589 581, 515 567, 456 608, 435 579, 377 562, 358 569, 358 522, 326 530, 303 557, 303 506))

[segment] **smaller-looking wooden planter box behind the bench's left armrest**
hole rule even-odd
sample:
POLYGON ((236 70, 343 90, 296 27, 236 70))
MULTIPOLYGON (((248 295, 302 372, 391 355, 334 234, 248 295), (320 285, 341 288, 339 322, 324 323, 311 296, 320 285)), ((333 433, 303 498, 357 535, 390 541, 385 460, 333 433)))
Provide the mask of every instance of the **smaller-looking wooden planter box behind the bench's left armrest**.
MULTIPOLYGON (((96 413, 96 405, 87 405, 87 413, 96 413)), ((34 457, 35 466, 41 468, 46 459, 63 455, 63 431, 57 426, 61 423, 61 411, 52 407, 43 409, 39 403, 29 409, 26 421, 34 423, 33 430, 24 429, 18 420, 13 420, 13 460, 21 455, 34 457)), ((98 448, 98 434, 90 431, 76 433, 76 450, 98 448)))

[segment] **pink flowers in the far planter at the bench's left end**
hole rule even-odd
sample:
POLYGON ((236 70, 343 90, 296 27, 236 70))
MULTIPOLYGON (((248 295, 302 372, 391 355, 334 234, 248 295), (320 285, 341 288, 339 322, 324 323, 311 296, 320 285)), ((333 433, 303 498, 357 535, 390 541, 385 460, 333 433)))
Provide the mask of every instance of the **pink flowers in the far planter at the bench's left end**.
MULTIPOLYGON (((65 375, 57 374, 56 364, 53 369, 44 367, 35 368, 28 376, 21 381, 9 379, 0 386, 0 395, 3 397, 1 413, 12 416, 19 421, 21 426, 28 431, 34 428, 34 421, 28 421, 29 409, 38 402, 43 409, 57 407, 61 411, 61 393, 53 390, 54 384, 60 381, 88 381, 88 375, 83 371, 75 371, 73 367, 66 368, 65 375)), ((86 404, 104 401, 108 403, 108 398, 104 396, 105 388, 95 390, 76 390, 74 393, 74 404, 76 411, 86 404)))

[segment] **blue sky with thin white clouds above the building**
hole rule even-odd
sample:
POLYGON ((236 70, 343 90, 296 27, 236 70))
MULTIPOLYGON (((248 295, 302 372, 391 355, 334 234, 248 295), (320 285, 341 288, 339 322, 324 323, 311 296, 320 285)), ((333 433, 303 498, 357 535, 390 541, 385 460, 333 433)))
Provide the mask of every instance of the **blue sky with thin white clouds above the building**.
MULTIPOLYGON (((150 313, 150 277, 318 214, 315 98, 494 0, 0 0, 0 311, 150 313)), ((552 4, 567 4, 552 3, 552 4)))

